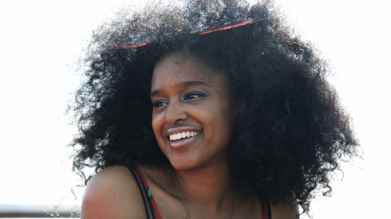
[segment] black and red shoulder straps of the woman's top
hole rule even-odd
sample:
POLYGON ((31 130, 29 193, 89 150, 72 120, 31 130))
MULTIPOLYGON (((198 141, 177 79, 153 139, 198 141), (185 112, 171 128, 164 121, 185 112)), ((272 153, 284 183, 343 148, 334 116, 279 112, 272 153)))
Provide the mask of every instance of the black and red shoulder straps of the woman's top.
MULTIPOLYGON (((136 179, 138 188, 140 189, 142 200, 144 201, 145 212, 147 219, 162 219, 159 210, 157 209, 155 200, 153 199, 152 193, 149 190, 148 184, 144 178, 144 175, 137 166, 126 165, 133 177, 136 179)), ((271 219, 270 205, 262 204, 263 218, 271 219)))

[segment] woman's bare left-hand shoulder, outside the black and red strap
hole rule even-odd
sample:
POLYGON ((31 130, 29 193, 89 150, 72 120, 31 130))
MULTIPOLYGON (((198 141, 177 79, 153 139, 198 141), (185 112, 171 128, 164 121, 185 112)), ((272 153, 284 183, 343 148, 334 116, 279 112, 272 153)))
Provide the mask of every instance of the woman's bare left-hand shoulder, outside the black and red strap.
POLYGON ((141 193, 126 166, 104 168, 88 182, 83 195, 81 217, 146 218, 141 193))

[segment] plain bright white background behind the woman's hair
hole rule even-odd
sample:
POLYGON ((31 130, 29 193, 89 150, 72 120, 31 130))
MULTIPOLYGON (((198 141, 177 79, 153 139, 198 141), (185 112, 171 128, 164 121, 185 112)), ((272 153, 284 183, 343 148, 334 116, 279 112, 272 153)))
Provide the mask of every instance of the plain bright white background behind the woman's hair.
MULTIPOLYGON (((0 8, 0 204, 80 203, 71 171, 76 133, 65 115, 80 75, 69 67, 124 0, 13 0, 0 8)), ((138 2, 138 1, 137 1, 138 2)), ((277 0, 292 24, 334 66, 330 81, 353 118, 364 160, 344 165, 314 218, 389 218, 389 3, 385 0, 277 0)))

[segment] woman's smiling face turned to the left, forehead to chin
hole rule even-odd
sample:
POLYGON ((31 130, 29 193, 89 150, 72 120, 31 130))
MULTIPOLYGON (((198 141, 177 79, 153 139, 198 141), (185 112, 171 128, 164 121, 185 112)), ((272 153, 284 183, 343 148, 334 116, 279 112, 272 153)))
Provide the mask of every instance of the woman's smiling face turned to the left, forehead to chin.
POLYGON ((179 52, 153 70, 152 127, 176 169, 227 163, 236 110, 226 76, 213 71, 199 56, 179 52))

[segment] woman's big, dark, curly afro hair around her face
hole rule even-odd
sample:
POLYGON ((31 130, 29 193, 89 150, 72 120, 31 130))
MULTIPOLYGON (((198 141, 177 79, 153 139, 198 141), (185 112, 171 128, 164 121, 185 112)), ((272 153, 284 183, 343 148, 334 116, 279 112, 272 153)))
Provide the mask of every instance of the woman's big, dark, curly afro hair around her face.
POLYGON ((299 204, 331 191, 331 173, 357 154, 349 115, 327 82, 327 63, 284 24, 272 1, 192 0, 142 11, 123 8, 94 33, 86 49, 86 80, 76 93, 79 134, 73 170, 85 183, 95 171, 132 163, 168 165, 157 145, 149 97, 152 71, 172 51, 197 52, 229 79, 241 108, 228 166, 234 189, 250 186, 260 201, 299 204), (262 21, 205 35, 191 31, 238 17, 262 21), (170 37, 166 37, 167 34, 170 37), (113 49, 138 36, 151 43, 113 49), (87 179, 86 179, 87 178, 87 179))

